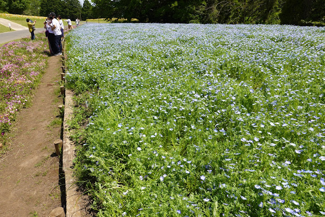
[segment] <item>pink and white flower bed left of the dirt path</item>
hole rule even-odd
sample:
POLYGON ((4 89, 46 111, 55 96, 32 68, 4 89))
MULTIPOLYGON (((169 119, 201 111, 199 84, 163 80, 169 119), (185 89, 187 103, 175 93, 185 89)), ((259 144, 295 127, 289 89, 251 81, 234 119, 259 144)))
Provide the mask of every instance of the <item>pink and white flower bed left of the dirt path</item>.
POLYGON ((4 135, 45 71, 46 38, 13 41, 0 47, 0 132, 4 135))

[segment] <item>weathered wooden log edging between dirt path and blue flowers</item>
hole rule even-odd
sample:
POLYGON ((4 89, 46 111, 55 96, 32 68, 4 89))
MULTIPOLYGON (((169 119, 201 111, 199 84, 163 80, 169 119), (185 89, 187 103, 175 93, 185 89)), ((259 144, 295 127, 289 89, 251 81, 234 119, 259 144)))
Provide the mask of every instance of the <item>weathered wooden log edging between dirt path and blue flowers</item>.
MULTIPOLYGON (((66 51, 64 51, 66 56, 66 51)), ((64 63, 64 62, 63 62, 64 63)), ((66 82, 66 81, 65 81, 66 82)), ((65 91, 65 106, 64 106, 64 120, 63 120, 63 165, 62 169, 65 174, 66 185, 66 216, 67 217, 81 217, 81 192, 77 191, 76 180, 73 177, 74 167, 73 160, 75 158, 75 144, 70 140, 71 132, 69 130, 68 121, 73 118, 73 92, 71 90, 65 91)))

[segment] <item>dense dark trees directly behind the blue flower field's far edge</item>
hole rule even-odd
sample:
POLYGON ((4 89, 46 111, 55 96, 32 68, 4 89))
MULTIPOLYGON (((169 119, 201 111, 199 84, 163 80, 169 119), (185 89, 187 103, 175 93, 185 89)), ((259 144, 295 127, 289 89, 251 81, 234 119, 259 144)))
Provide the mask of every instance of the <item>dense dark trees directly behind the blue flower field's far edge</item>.
POLYGON ((140 22, 306 24, 325 21, 323 0, 94 0, 105 18, 140 22))

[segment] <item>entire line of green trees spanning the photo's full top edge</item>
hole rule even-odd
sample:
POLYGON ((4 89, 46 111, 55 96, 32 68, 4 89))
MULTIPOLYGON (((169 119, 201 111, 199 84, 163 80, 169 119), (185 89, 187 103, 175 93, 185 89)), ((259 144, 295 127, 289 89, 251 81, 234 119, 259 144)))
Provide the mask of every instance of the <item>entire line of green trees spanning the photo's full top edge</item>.
POLYGON ((324 0, 0 0, 0 12, 139 22, 325 25, 324 0))

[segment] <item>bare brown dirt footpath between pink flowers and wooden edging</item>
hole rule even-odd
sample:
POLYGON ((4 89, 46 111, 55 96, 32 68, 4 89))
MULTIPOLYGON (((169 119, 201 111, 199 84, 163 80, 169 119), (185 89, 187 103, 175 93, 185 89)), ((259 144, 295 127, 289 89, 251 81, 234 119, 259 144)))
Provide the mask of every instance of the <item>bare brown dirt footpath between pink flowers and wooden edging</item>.
POLYGON ((9 150, 0 156, 0 216, 48 216, 60 207, 61 57, 50 57, 32 106, 17 116, 9 150))

